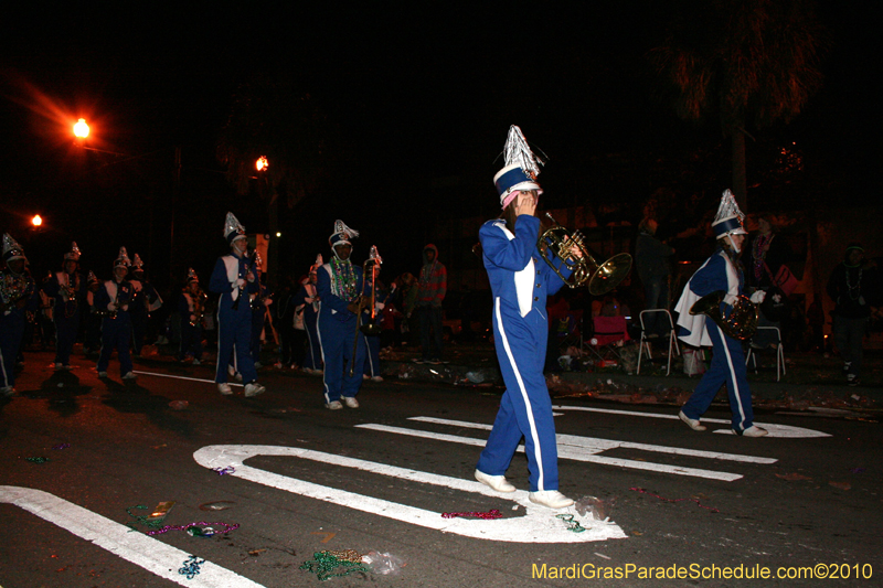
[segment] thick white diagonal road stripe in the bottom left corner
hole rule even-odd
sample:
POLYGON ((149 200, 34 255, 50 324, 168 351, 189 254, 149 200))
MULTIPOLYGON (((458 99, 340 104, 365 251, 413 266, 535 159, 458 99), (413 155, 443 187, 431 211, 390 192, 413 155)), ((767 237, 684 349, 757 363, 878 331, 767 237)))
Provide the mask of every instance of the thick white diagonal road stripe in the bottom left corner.
POLYGON ((212 564, 208 559, 200 565, 200 575, 188 580, 187 576, 178 574, 184 560, 191 555, 188 552, 166 545, 148 535, 134 533, 125 525, 42 490, 0 485, 0 503, 14 504, 136 566, 181 586, 263 588, 263 585, 212 564))

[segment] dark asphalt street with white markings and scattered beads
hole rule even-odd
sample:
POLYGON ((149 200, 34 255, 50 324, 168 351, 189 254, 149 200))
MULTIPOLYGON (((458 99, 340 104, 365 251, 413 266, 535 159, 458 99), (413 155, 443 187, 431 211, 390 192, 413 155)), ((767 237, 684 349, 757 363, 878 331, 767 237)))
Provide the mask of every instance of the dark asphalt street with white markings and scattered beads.
POLYGON ((4 588, 818 586, 834 576, 879 586, 883 577, 883 435, 872 420, 759 414, 774 435, 746 439, 713 432, 728 428, 725 413, 694 432, 670 408, 555 403, 561 490, 615 500, 610 522, 577 513, 587 531, 575 533, 526 501, 523 453, 508 474, 514 495, 474 481, 500 391, 366 383, 361 408, 330 411, 318 377, 268 372, 266 394, 244 398, 240 387, 223 397, 199 381, 212 379, 211 366, 143 362, 124 384, 115 362, 99 381, 79 357, 70 373, 53 372, 49 353, 26 360, 20 396, 0 406, 4 588), (26 459, 35 457, 49 461, 26 459), (168 525, 240 527, 202 538, 125 526, 135 522, 127 509, 142 515, 132 506, 162 501, 175 502, 168 525), (204 510, 217 501, 232 504, 204 510), (501 520, 440 516, 492 509, 501 520), (299 569, 322 549, 389 553, 405 566, 326 584, 299 569), (178 569, 190 554, 206 563, 187 579, 178 569), (722 577, 765 568, 774 577, 722 577), (828 579, 775 578, 810 568, 828 579))

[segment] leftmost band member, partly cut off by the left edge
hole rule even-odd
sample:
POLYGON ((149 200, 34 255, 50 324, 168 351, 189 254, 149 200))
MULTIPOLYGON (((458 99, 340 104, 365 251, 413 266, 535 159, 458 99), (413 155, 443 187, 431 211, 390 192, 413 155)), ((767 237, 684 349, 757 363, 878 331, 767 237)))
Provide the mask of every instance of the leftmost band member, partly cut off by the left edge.
POLYGON ((24 335, 25 311, 40 306, 36 286, 25 268, 21 245, 3 234, 3 261, 0 270, 0 396, 15 395, 15 359, 24 335))

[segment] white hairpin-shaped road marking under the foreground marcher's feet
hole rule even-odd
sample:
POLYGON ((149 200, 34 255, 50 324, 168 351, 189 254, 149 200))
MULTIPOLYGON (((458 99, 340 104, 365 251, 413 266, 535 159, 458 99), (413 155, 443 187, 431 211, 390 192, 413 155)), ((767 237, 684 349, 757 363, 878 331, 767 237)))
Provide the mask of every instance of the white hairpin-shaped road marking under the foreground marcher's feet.
MULTIPOLYGON (((544 506, 538 506, 528 500, 528 492, 525 491, 512 492, 503 495, 493 492, 480 482, 334 456, 321 451, 277 446, 209 446, 193 453, 193 459, 200 466, 209 469, 233 466, 235 471, 230 475, 236 475, 244 480, 270 488, 277 488, 286 492, 330 502, 348 509, 402 521, 426 528, 434 528, 443 533, 454 533, 465 537, 513 543, 583 543, 605 541, 608 538, 626 538, 626 534, 618 525, 600 523, 591 518, 579 518, 579 515, 575 516, 587 531, 584 533, 567 531, 562 521, 555 518, 554 515, 558 512, 574 513, 573 509, 570 511, 552 511, 544 506), (503 501, 511 501, 524 506, 526 514, 523 516, 490 521, 460 517, 443 518, 442 512, 427 511, 415 506, 398 504, 396 502, 357 494, 345 490, 319 485, 296 478, 252 468, 243 463, 246 459, 255 456, 283 456, 309 459, 332 466, 341 466, 381 475, 389 475, 400 480, 439 485, 462 492, 472 492, 494 499, 493 502, 489 501, 489 507, 496 506, 502 511, 504 510, 501 507, 502 505, 497 505, 503 501)), ((456 502, 451 502, 449 510, 457 510, 456 502)))

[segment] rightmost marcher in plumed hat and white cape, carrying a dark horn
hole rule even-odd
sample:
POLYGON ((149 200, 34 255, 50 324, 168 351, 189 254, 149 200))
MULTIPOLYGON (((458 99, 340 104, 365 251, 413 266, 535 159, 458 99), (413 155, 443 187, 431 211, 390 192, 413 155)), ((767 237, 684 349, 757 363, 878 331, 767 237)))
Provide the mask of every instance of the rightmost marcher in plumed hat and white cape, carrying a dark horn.
MULTIPOLYGON (((726 384, 730 408, 733 411, 733 430, 744 437, 763 437, 765 429, 754 424, 752 410, 752 392, 745 374, 745 354, 742 342, 727 333, 727 327, 706 320, 705 314, 692 314, 690 310, 700 298, 715 291, 724 291, 720 303, 720 317, 724 320, 733 316, 736 306, 745 303, 743 289, 745 277, 738 261, 745 243, 745 215, 740 211, 736 200, 730 190, 724 192, 717 215, 712 222, 712 229, 717 238, 719 248, 702 264, 683 289, 681 299, 674 308, 680 314, 678 338, 693 346, 713 345, 713 356, 709 371, 702 376, 693 395, 678 415, 693 430, 702 431, 705 427, 699 419, 711 406, 711 402, 726 384)), ((759 304, 765 292, 757 290, 751 302, 759 304)))

